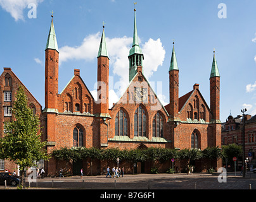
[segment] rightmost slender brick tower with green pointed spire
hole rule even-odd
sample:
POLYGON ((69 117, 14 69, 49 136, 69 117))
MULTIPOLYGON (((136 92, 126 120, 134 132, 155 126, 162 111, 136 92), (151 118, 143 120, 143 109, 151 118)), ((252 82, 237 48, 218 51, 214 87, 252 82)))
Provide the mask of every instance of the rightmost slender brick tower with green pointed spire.
POLYGON ((220 78, 214 51, 214 61, 210 73, 210 110, 212 111, 212 121, 215 122, 219 122, 220 119, 220 78))

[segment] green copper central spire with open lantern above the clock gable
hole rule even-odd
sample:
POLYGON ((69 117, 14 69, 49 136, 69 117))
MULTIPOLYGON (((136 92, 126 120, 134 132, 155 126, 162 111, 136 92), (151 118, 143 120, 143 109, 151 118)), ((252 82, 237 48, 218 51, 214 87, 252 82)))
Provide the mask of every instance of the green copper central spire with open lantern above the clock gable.
POLYGON ((129 81, 134 78, 137 71, 141 71, 143 73, 143 52, 139 47, 139 39, 136 25, 136 9, 134 9, 134 33, 133 33, 133 42, 132 49, 130 50, 129 56, 129 81))

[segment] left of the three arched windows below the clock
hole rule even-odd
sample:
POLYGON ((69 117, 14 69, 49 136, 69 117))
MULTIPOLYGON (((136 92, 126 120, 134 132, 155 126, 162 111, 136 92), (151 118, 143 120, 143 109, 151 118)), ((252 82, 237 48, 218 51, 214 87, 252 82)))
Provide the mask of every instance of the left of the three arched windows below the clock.
POLYGON ((115 117, 115 136, 127 136, 127 117, 122 109, 115 117))

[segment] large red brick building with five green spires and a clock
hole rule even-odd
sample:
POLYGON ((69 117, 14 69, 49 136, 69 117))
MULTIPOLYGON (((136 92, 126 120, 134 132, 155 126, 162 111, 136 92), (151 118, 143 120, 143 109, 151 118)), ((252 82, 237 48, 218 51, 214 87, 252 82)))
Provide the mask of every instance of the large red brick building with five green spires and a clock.
MULTIPOLYGON (((79 69, 74 69, 74 76, 63 91, 58 93, 59 50, 53 20, 45 52, 45 108, 41 110, 41 105, 35 99, 32 103, 41 116, 42 139, 48 142, 48 153, 64 147, 77 146, 120 149, 153 146, 201 150, 207 146, 221 147, 220 75, 215 54, 210 74, 210 107, 208 107, 198 84, 191 86, 191 92, 179 97, 179 68, 173 47, 170 68, 166 69, 166 73, 169 71, 170 102, 163 106, 143 73, 144 55, 139 47, 134 15, 133 44, 127 61, 130 83, 120 100, 109 109, 108 76, 111 66, 109 66, 110 58, 104 28, 97 56, 97 98, 89 92, 80 77, 79 69)), ((3 82, 6 73, 7 71, 4 70, 1 76, 2 91, 5 90, 3 82)), ((12 72, 10 76, 13 76, 12 72)), ((16 88, 12 89, 14 95, 16 88)), ((2 93, 2 103, 6 105, 3 95, 2 93)), ((30 97, 33 98, 32 95, 30 97)), ((3 108, 3 105, 1 107, 3 108)), ((3 126, 1 127, 3 131, 3 126)), ((179 166, 179 163, 176 165, 179 166)), ((52 175, 60 167, 66 166, 65 162, 51 158, 44 167, 48 174, 52 175)), ((89 162, 77 162, 76 165, 68 166, 73 174, 77 173, 80 167, 84 168, 86 174, 91 170, 93 170, 92 174, 98 174, 103 167, 106 167, 106 162, 94 162, 93 168, 89 162)), ((215 162, 214 167, 221 167, 220 162, 215 162)), ((150 163, 138 163, 138 172, 149 172, 149 170, 150 163)))

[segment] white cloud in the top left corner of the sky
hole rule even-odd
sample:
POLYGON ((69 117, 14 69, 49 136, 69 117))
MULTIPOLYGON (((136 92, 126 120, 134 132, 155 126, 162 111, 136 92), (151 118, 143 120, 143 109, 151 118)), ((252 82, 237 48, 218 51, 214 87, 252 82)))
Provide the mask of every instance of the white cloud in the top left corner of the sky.
MULTIPOLYGON (((30 3, 36 6, 44 0, 0 0, 0 6, 11 14, 15 21, 24 20, 23 10, 28 8, 30 3)), ((28 10, 29 11, 29 10, 28 10)))

